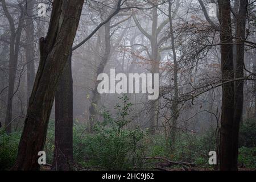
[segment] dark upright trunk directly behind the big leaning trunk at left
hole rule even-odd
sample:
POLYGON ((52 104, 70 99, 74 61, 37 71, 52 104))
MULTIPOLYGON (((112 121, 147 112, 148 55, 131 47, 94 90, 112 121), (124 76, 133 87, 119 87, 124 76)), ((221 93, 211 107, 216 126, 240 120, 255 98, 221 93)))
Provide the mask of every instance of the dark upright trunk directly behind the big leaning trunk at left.
POLYGON ((52 170, 68 171, 73 163, 72 53, 69 55, 55 96, 55 148, 52 170))

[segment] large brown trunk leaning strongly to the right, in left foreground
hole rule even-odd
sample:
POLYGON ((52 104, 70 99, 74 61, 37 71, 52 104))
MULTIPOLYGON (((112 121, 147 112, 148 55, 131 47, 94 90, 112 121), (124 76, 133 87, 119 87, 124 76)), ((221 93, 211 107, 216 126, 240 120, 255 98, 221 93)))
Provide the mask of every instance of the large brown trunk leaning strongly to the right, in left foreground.
POLYGON ((20 138, 14 170, 39 169, 56 88, 68 61, 84 0, 53 1, 46 38, 40 38, 40 63, 20 138))

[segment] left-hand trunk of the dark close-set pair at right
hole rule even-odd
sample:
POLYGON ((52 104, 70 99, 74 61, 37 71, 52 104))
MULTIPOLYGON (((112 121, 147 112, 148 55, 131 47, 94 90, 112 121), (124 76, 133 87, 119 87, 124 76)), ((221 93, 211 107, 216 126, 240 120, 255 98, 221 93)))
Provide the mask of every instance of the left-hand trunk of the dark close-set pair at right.
POLYGON ((222 72, 222 106, 220 130, 220 169, 232 170, 233 163, 233 118, 234 118, 234 82, 233 79, 233 40, 231 7, 229 0, 219 0, 221 72, 222 72), (229 82, 227 82, 229 81, 229 82))

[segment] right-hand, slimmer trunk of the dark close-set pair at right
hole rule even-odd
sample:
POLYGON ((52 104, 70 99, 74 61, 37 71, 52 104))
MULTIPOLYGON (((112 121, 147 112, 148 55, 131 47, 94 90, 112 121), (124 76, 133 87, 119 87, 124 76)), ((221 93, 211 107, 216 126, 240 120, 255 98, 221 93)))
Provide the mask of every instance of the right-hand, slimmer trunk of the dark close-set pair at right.
MULTIPOLYGON (((243 40, 245 39, 245 25, 247 18, 247 0, 240 0, 240 9, 237 14, 237 32, 236 36, 238 40, 236 41, 236 67, 234 76, 235 78, 243 77, 243 67, 244 67, 244 56, 245 50, 243 40)), ((243 80, 235 82, 235 96, 234 96, 234 121, 232 125, 233 137, 232 137, 232 170, 237 170, 237 157, 238 157, 238 139, 239 139, 239 128, 242 122, 243 114, 243 80)))

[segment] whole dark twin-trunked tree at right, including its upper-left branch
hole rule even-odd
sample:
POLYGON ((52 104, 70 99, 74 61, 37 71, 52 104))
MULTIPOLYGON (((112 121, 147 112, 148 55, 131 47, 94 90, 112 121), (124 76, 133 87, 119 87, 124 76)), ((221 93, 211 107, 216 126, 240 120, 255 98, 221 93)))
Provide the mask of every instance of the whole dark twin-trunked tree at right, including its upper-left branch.
POLYGON ((243 111, 243 79, 241 78, 244 77, 245 26, 248 1, 235 1, 233 9, 230 1, 218 1, 220 29, 210 20, 203 2, 199 0, 199 3, 209 24, 220 31, 223 82, 220 169, 237 170, 238 135, 243 111), (233 21, 231 13, 234 14, 233 21), (232 36, 232 23, 235 24, 235 38, 232 36))

